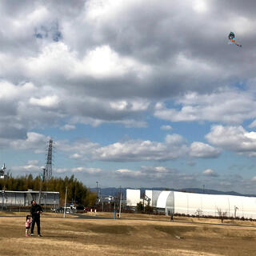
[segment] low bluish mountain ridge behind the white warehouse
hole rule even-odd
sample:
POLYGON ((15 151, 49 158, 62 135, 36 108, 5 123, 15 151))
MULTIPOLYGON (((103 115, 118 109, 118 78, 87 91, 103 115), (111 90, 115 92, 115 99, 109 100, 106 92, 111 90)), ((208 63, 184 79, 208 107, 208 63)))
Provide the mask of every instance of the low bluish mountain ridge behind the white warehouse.
MULTIPOLYGON (((98 188, 99 196, 119 196, 120 191, 122 191, 122 196, 126 198, 126 189, 133 190, 134 188, 124 187, 124 188, 116 188, 116 187, 106 187, 106 188, 98 188)), ((174 190, 166 187, 141 187, 138 188, 141 190, 141 194, 145 192, 145 190, 174 190)), ((90 188, 90 191, 97 191, 97 188, 90 188)), ((218 191, 218 190, 203 190, 199 188, 185 188, 181 190, 174 190, 188 193, 198 193, 198 194, 230 194, 230 195, 238 195, 238 196, 246 196, 246 197, 256 197, 256 194, 241 194, 234 191, 218 191)))

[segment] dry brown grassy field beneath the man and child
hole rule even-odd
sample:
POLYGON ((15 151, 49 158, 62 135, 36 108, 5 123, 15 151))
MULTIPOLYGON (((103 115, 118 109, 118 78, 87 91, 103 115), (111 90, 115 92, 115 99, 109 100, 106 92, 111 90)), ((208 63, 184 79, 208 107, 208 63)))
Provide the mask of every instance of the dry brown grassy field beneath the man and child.
POLYGON ((25 215, 0 212, 0 255, 246 256, 256 251, 254 222, 233 221, 229 224, 248 226, 226 226, 216 225, 219 220, 174 218, 169 222, 165 216, 145 214, 122 214, 115 220, 42 214, 43 237, 26 238, 25 215))

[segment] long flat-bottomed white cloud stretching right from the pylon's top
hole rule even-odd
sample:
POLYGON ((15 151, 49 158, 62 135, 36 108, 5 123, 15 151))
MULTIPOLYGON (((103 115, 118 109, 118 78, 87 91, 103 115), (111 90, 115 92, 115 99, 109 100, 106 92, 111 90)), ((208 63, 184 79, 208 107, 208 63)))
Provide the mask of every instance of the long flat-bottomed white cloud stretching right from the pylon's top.
POLYGON ((168 161, 178 158, 217 158, 221 151, 202 142, 191 145, 178 134, 167 134, 164 142, 127 140, 101 146, 98 143, 77 140, 74 143, 57 142, 70 158, 106 162, 168 161))

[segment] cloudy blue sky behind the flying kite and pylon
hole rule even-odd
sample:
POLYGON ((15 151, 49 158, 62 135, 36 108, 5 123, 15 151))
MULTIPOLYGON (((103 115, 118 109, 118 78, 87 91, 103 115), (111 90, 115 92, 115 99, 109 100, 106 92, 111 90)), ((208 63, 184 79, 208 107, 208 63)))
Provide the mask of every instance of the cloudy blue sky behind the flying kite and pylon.
POLYGON ((256 193, 255 1, 0 2, 0 164, 86 186, 256 193), (242 48, 228 42, 233 31, 242 48))

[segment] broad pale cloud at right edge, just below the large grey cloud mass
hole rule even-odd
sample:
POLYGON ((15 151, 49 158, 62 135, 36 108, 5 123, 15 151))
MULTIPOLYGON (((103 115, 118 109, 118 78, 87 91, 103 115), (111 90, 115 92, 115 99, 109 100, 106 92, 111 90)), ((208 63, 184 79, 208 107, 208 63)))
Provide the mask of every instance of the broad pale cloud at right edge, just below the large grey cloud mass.
POLYGON ((240 124, 255 118, 256 94, 234 89, 218 90, 212 94, 187 93, 178 98, 177 109, 168 109, 158 102, 154 115, 170 122, 224 122, 240 124))

